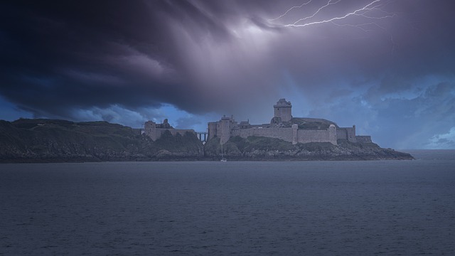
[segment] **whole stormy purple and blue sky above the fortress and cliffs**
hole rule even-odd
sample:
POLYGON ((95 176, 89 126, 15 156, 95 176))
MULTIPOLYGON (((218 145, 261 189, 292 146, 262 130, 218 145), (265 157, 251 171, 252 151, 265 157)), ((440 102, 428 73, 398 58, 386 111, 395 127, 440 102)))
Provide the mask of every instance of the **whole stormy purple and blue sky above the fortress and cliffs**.
POLYGON ((455 149, 450 0, 2 1, 0 119, 330 119, 455 149))

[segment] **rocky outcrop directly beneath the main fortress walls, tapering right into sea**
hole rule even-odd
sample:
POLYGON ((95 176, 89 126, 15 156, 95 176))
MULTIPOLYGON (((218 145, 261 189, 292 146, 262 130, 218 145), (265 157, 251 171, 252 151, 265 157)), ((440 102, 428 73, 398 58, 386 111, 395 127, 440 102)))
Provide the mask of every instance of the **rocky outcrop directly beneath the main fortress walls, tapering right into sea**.
MULTIPOLYGON (((219 139, 211 139, 204 147, 206 159, 219 159, 219 139)), ((330 142, 291 144, 281 139, 267 137, 233 137, 223 144, 223 153, 232 160, 410 160, 410 154, 382 149, 378 144, 352 143, 338 139, 338 145, 330 142)))

